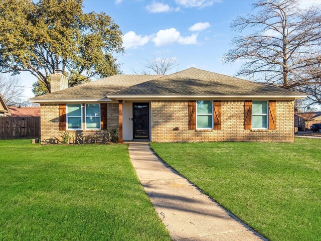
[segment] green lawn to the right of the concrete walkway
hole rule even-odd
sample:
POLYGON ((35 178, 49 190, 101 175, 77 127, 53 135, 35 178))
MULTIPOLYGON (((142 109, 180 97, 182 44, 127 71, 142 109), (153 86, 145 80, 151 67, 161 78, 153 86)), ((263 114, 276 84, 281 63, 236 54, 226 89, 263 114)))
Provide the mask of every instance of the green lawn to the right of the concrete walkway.
POLYGON ((150 146, 268 239, 321 240, 321 140, 150 146))

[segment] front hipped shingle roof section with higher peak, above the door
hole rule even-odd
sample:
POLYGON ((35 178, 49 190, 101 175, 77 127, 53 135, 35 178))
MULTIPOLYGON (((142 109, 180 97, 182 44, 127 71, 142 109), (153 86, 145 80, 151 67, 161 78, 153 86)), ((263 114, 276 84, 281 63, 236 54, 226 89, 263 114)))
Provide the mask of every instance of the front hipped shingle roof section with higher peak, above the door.
POLYGON ((297 95, 302 93, 249 80, 189 68, 174 74, 110 91, 113 95, 297 95))

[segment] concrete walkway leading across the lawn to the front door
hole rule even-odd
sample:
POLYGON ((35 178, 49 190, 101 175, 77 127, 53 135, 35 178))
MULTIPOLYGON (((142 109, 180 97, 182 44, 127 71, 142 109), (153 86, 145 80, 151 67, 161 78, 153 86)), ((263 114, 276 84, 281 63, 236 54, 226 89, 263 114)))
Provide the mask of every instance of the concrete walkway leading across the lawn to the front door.
POLYGON ((265 240, 163 163, 147 143, 131 143, 129 154, 174 240, 265 240))

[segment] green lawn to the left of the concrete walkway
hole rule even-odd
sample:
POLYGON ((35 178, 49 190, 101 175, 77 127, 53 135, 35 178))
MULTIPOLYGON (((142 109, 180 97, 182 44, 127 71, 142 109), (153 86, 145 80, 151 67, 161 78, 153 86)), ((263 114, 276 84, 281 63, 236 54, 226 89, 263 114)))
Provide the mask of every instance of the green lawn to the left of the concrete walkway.
POLYGON ((126 145, 0 141, 0 240, 170 240, 126 145))

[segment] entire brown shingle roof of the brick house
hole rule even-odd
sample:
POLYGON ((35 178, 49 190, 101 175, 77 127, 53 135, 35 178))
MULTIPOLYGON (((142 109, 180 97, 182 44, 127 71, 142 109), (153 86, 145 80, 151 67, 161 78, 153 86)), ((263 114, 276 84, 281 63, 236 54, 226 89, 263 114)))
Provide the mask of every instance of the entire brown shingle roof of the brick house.
POLYGON ((262 83, 189 68, 170 75, 113 75, 30 100, 103 99, 116 95, 303 95, 262 83), (107 95, 107 96, 106 96, 107 95))

